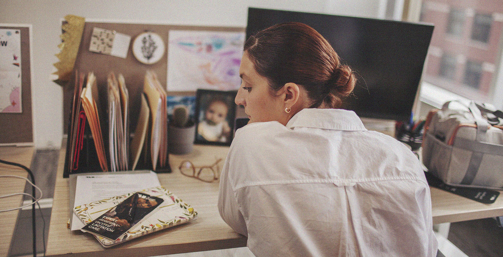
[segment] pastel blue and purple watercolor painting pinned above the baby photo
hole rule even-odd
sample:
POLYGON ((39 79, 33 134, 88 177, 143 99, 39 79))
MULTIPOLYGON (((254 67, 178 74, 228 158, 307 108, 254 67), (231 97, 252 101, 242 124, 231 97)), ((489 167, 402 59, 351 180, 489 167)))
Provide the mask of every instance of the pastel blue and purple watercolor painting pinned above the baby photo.
POLYGON ((167 90, 236 90, 244 32, 182 31, 169 34, 167 90))

